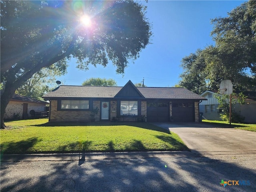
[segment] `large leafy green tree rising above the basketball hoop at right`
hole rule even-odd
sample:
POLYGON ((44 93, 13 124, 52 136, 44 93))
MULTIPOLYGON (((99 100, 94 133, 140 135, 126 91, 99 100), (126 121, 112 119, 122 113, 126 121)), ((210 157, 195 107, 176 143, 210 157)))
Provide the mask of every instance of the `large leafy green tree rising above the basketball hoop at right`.
POLYGON ((182 59, 180 85, 201 94, 229 79, 234 90, 256 90, 256 1, 244 2, 212 24, 215 46, 182 59))

